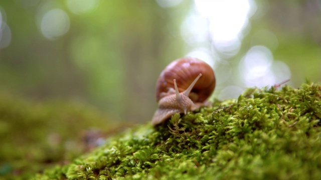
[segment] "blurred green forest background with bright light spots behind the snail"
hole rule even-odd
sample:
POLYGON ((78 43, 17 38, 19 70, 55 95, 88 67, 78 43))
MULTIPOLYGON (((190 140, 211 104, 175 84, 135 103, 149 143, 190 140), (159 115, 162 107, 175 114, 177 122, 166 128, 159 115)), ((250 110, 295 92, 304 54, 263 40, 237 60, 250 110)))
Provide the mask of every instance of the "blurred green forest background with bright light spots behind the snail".
POLYGON ((172 60, 213 66, 212 98, 321 79, 320 0, 1 0, 0 90, 146 122, 172 60))

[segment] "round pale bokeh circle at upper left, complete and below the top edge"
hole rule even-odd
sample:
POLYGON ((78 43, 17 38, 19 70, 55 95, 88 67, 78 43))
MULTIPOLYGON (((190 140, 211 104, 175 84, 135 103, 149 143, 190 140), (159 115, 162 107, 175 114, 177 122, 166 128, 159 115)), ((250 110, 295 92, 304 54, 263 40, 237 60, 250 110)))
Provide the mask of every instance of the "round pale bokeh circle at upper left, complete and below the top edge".
POLYGON ((40 29, 48 39, 65 34, 69 30, 70 20, 68 14, 59 8, 49 10, 44 14, 40 29))

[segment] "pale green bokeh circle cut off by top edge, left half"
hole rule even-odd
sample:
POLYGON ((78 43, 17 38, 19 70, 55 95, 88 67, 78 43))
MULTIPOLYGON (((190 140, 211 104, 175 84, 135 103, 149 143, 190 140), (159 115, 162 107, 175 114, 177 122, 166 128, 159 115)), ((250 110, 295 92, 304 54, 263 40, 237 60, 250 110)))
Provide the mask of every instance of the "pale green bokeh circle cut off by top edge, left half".
POLYGON ((67 6, 75 14, 88 12, 98 4, 97 0, 67 0, 67 6))

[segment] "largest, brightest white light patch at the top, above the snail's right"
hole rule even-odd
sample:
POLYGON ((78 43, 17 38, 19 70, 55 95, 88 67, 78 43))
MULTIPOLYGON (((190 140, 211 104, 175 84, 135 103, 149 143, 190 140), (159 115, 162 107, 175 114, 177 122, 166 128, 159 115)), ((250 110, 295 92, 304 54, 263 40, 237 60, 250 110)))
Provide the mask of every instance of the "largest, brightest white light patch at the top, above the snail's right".
POLYGON ((209 20, 207 28, 215 50, 229 58, 238 53, 242 30, 255 5, 252 0, 194 0, 199 13, 209 20), (232 5, 233 4, 233 5, 232 5))

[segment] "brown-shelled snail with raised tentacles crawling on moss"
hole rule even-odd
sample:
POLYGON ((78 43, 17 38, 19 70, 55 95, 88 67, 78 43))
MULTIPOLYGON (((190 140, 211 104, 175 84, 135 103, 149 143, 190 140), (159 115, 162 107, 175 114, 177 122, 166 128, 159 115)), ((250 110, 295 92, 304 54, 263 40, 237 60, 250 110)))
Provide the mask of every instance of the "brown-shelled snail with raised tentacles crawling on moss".
POLYGON ((195 57, 183 57, 171 62, 156 82, 158 108, 152 125, 164 122, 173 114, 187 113, 208 103, 215 88, 212 67, 195 57))

